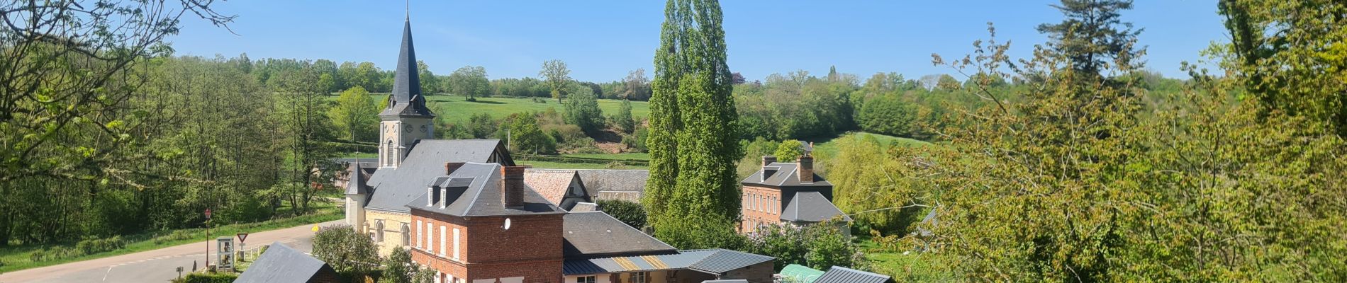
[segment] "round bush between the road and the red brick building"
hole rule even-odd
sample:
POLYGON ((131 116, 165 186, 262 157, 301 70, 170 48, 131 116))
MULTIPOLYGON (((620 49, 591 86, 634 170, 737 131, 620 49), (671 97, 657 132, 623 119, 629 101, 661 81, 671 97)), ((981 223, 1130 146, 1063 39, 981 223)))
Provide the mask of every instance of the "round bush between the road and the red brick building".
POLYGON ((364 278, 379 268, 379 247, 350 225, 325 227, 314 233, 314 258, 346 278, 364 278))

